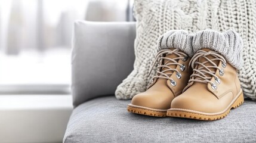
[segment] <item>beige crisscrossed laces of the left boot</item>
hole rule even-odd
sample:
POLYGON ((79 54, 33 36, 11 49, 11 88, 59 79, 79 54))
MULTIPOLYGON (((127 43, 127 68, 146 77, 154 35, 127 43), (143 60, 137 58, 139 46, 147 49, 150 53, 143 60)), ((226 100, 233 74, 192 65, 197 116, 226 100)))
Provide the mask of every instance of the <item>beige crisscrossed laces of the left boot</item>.
POLYGON ((150 68, 150 71, 149 71, 149 74, 150 74, 153 70, 154 65, 158 61, 158 63, 159 63, 158 70, 156 71, 156 75, 153 76, 152 82, 155 78, 156 79, 158 79, 158 78, 169 79, 169 80, 171 80, 172 86, 175 86, 175 84, 174 84, 175 81, 170 76, 174 73, 174 71, 176 71, 176 73, 179 74, 181 77, 181 73, 179 73, 179 71, 177 69, 172 69, 169 66, 171 66, 171 65, 180 66, 181 71, 183 71, 186 67, 184 66, 184 64, 178 63, 178 60, 182 59, 183 61, 186 61, 187 58, 188 58, 187 54, 184 54, 183 52, 178 51, 178 49, 173 49, 173 50, 162 49, 161 51, 159 51, 156 54, 155 60, 154 60, 152 66, 150 68), (166 55, 171 55, 171 54, 175 54, 178 57, 176 57, 176 58, 166 57, 166 55), (164 63, 164 60, 166 61, 165 63, 164 63), (164 68, 166 68, 166 69, 161 71, 161 69, 164 69, 164 68), (168 71, 171 71, 171 72, 166 73, 168 71))

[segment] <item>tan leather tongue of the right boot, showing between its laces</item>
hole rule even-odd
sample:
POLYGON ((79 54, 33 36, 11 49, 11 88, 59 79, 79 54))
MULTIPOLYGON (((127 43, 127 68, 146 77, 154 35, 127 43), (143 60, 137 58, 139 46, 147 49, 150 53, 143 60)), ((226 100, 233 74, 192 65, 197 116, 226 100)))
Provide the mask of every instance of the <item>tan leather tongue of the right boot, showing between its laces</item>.
MULTIPOLYGON (((207 48, 202 48, 201 50, 206 51, 206 52, 212 51, 211 49, 207 49, 207 48)), ((215 58, 215 57, 213 57, 212 55, 206 55, 206 57, 209 58, 210 60, 213 59, 213 58, 215 58)), ((199 61, 199 63, 203 63, 203 62, 208 61, 208 60, 206 60, 205 57, 199 57, 199 58, 198 58, 198 61, 199 61)), ((215 63, 215 64, 218 66, 218 63, 219 63, 220 61, 215 60, 215 61, 212 61, 212 62, 215 63)), ((214 66, 214 65, 212 65, 212 63, 210 63, 210 62, 208 62, 208 63, 206 63, 206 64, 204 64, 204 65, 205 65, 205 66, 214 66)), ((201 66, 200 64, 198 64, 197 66, 198 66, 198 67, 196 67, 196 69, 199 69, 200 67, 203 67, 203 66, 201 66)), ((205 68, 203 68, 202 70, 208 71, 208 70, 205 69, 205 68)), ((209 70, 211 70, 211 71, 216 71, 215 68, 209 68, 209 70)), ((210 74, 205 74, 205 76, 207 76, 207 77, 212 77, 210 74)), ((200 79, 200 77, 196 77, 196 79, 200 79)))

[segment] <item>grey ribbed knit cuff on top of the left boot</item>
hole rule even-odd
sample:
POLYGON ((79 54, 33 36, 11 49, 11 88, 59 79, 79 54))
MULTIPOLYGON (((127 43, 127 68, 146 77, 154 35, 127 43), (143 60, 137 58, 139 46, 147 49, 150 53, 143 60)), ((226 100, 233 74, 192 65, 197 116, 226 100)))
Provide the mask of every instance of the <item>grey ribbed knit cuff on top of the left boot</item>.
POLYGON ((170 30, 158 38, 158 51, 161 49, 177 48, 193 56, 192 35, 186 30, 170 30))

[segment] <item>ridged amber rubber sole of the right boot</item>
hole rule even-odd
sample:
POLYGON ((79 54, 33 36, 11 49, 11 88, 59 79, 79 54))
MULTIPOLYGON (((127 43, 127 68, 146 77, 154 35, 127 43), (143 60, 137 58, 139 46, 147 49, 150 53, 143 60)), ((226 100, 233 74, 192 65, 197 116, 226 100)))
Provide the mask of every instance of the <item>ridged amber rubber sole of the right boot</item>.
POLYGON ((188 111, 188 110, 183 110, 183 109, 175 109, 175 108, 171 108, 169 110, 167 110, 166 115, 169 117, 182 117, 182 118, 189 118, 189 119, 196 119, 196 120, 218 120, 218 119, 223 119, 224 117, 227 116, 227 114, 230 113, 230 110, 232 108, 237 108, 240 105, 243 104, 244 100, 243 100, 243 92, 242 90, 239 92, 239 95, 237 98, 235 98, 236 100, 233 101, 229 107, 220 112, 220 114, 203 114, 203 113, 199 113, 197 111, 188 111))

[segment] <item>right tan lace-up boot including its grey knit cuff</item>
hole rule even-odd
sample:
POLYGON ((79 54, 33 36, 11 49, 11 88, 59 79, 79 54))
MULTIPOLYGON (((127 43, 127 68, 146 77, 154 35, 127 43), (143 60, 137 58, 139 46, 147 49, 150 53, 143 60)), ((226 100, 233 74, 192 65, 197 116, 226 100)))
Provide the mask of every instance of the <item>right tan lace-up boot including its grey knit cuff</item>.
POLYGON ((190 61, 193 74, 190 76, 189 84, 184 88, 183 94, 171 102, 171 108, 167 111, 167 116, 217 120, 226 117, 231 108, 236 108, 243 103, 243 92, 235 68, 235 66, 242 65, 239 61, 242 58, 239 53, 239 48, 242 46, 239 43, 242 40, 238 37, 237 33, 230 31, 224 34, 205 32, 195 38, 195 41, 193 39, 193 42, 202 42, 201 46, 210 48, 195 49, 198 51, 190 61), (219 41, 206 42, 205 39, 202 39, 204 36, 208 36, 206 39, 226 41, 223 44, 217 44, 225 47, 215 47, 214 44, 219 41), (227 47, 227 45, 232 46, 232 43, 237 46, 227 47), (229 52, 233 53, 229 54, 229 52))

